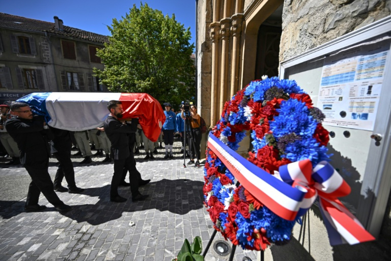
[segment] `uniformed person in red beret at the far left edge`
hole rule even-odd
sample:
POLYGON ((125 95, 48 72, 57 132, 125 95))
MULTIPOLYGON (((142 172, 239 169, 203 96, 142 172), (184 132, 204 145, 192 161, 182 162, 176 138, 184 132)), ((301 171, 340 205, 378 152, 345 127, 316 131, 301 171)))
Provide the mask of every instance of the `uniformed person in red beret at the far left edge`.
POLYGON ((20 164, 18 145, 5 129, 5 122, 11 117, 9 106, 1 104, 0 112, 0 141, 3 144, 5 151, 7 151, 7 154, 12 157, 12 160, 5 165, 18 165, 20 164))

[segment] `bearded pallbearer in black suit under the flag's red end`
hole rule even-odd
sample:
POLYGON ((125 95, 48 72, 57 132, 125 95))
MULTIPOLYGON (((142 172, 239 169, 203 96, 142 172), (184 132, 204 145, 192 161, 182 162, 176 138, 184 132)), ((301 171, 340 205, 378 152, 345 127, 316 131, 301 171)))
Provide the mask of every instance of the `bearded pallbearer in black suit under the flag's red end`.
MULTIPOLYGON (((127 167, 127 169, 132 168, 129 138, 127 134, 136 132, 138 119, 132 119, 131 123, 121 120, 124 110, 122 109, 122 103, 120 101, 109 101, 107 108, 110 111, 110 115, 104 122, 104 130, 111 142, 111 157, 114 160, 114 174, 111 179, 110 200, 113 202, 124 202, 126 201, 126 198, 123 198, 118 194, 118 185, 122 180, 124 167, 127 167)), ((130 175, 132 200, 145 200, 148 195, 142 195, 138 191, 139 177, 135 175, 135 173, 130 173, 130 175)))

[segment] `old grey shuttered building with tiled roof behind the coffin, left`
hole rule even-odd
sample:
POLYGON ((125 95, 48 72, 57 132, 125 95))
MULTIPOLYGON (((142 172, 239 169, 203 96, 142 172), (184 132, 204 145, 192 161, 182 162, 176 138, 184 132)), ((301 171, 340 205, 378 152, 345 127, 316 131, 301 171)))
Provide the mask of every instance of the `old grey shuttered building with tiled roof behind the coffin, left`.
POLYGON ((107 36, 54 22, 0 13, 0 99, 32 92, 105 92, 93 76, 103 69, 97 48, 107 36))

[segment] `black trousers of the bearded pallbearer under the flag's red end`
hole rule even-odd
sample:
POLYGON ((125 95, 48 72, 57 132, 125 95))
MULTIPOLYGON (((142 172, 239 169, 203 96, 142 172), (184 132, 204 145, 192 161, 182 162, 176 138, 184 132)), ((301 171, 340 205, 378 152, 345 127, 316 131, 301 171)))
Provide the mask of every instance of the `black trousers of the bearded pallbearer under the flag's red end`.
MULTIPOLYGON (((114 173, 113 178, 111 179, 111 188, 110 188, 110 197, 114 198, 118 196, 118 185, 123 180, 122 175, 124 173, 124 168, 127 169, 132 168, 132 159, 131 157, 127 157, 120 160, 114 160, 114 173)), ((129 181, 130 181, 130 191, 132 192, 132 196, 136 196, 138 192, 138 176, 129 173, 129 181)))

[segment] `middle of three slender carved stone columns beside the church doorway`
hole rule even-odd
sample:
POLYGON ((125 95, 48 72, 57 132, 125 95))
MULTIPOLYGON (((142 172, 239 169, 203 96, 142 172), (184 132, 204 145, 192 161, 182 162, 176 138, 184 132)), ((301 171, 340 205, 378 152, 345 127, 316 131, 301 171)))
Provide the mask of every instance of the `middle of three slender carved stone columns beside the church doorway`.
POLYGON ((224 18, 220 21, 221 29, 221 71, 220 71, 220 103, 219 114, 221 115, 224 103, 228 99, 228 53, 230 48, 230 18, 224 18))

